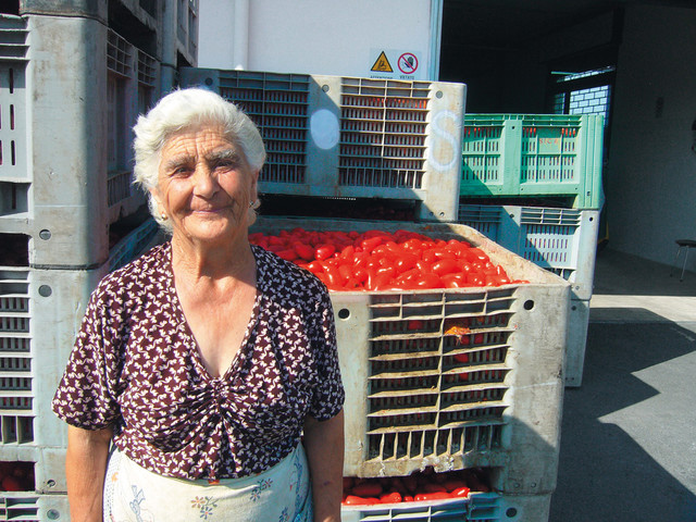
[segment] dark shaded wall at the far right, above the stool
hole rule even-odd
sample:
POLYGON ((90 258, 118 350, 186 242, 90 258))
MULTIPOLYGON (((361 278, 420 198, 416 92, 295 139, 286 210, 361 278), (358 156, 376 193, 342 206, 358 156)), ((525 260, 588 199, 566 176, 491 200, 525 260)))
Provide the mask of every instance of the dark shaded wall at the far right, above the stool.
POLYGON ((675 239, 696 238, 695 34, 695 10, 626 9, 605 171, 609 246, 662 263, 675 239))

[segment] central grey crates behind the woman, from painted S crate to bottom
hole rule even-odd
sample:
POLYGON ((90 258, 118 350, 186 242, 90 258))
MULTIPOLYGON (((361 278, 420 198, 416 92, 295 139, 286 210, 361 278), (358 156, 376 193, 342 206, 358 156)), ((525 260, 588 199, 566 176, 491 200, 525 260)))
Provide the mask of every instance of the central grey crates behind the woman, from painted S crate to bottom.
POLYGON ((464 86, 195 69, 181 77, 241 104, 260 126, 269 149, 262 200, 417 207, 411 222, 262 217, 252 232, 406 228, 468 240, 530 282, 332 293, 347 388, 346 476, 481 467, 493 486, 461 500, 344 507, 344 520, 545 522, 558 465, 569 285, 455 223, 464 86), (451 333, 457 327, 469 332, 465 345, 451 333))

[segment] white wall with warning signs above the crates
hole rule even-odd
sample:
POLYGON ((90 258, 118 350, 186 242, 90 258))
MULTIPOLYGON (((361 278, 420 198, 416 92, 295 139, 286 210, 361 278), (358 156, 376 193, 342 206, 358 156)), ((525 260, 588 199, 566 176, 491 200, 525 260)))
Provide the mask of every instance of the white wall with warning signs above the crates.
POLYGON ((442 0, 206 0, 198 65, 371 76, 385 51, 394 73, 383 77, 437 79, 440 12, 442 0), (399 71, 403 53, 415 71, 399 71))

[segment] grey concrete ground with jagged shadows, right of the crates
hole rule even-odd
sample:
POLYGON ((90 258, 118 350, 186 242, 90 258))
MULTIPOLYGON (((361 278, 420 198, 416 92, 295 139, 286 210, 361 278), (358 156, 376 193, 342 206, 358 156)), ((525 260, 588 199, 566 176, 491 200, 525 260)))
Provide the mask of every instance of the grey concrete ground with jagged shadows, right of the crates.
POLYGON ((679 276, 598 253, 549 522, 696 521, 696 273, 679 276))

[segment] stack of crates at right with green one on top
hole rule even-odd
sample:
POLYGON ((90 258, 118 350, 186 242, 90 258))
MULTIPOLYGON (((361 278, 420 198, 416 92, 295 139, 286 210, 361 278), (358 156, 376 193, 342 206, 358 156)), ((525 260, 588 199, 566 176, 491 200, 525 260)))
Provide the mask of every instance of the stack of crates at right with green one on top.
POLYGON ((459 221, 571 283, 566 384, 583 375, 601 208, 604 119, 468 114, 459 221), (557 200, 554 207, 496 204, 557 200), (481 203, 478 203, 481 201, 481 203))

